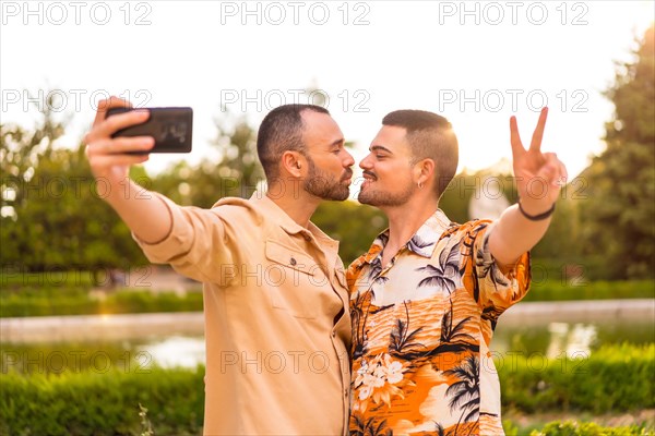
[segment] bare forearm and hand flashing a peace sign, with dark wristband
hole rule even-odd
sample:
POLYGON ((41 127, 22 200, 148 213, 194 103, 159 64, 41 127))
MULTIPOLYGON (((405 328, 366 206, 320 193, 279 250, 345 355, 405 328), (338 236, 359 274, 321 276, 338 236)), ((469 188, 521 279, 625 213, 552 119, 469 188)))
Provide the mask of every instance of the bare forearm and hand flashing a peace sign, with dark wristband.
POLYGON ((541 109, 527 150, 519 136, 516 118, 510 119, 512 160, 520 204, 505 209, 489 235, 489 251, 501 266, 513 265, 544 237, 561 186, 567 181, 567 169, 555 153, 541 153, 547 116, 548 109, 541 109))

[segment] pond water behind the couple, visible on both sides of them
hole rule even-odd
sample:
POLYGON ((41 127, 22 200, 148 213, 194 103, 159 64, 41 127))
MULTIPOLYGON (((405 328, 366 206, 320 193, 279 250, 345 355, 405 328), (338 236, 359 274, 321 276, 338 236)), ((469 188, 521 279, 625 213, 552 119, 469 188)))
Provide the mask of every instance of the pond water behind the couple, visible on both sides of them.
MULTIPOLYGON (((535 320, 520 324, 502 319, 491 351, 503 356, 535 355, 556 359, 587 358, 606 344, 655 342, 655 319, 603 319, 585 323, 535 320)), ((106 372, 111 367, 144 371, 151 365, 193 368, 204 364, 204 338, 190 335, 144 337, 110 342, 58 342, 0 344, 0 370, 22 373, 61 373, 66 370, 106 372)))

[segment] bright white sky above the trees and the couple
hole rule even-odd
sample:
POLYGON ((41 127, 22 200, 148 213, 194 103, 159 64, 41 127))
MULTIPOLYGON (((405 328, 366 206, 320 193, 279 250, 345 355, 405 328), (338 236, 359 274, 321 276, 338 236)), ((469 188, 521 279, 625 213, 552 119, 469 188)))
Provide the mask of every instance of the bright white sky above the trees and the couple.
POLYGON ((74 114, 64 144, 87 129, 98 98, 135 106, 191 106, 194 152, 216 153, 221 104, 259 125, 282 102, 329 109, 359 161, 395 109, 445 116, 460 138, 461 169, 511 157, 509 118, 529 142, 543 98, 544 149, 571 177, 603 149, 614 107, 600 93, 615 60, 655 20, 653 1, 2 1, 2 122, 31 125, 27 89, 58 89, 74 114), (250 11, 250 14, 247 12, 250 11), (468 13, 466 14, 466 11, 468 13), (243 23, 245 22, 245 23, 243 23), (105 23, 105 24, 103 24, 105 23), (323 23, 323 24, 321 24, 323 23), (345 23, 345 24, 344 24, 345 23), (540 24, 539 24, 540 23, 540 24), (247 98, 247 99, 245 99, 247 98))

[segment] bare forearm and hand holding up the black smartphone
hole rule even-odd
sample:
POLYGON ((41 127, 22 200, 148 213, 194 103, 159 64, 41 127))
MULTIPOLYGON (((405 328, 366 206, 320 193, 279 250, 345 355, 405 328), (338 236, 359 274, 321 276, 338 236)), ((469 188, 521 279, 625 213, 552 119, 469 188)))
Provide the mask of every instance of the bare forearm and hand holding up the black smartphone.
POLYGON ((129 101, 111 97, 98 105, 91 132, 85 137, 86 156, 97 182, 108 186, 104 199, 114 207, 132 232, 142 241, 155 243, 170 232, 172 220, 168 208, 157 195, 145 191, 129 179, 130 166, 142 164, 150 155, 129 155, 126 152, 146 152, 154 146, 150 136, 117 137, 111 134, 147 120, 147 111, 130 111, 105 119, 109 108, 131 107, 129 101))

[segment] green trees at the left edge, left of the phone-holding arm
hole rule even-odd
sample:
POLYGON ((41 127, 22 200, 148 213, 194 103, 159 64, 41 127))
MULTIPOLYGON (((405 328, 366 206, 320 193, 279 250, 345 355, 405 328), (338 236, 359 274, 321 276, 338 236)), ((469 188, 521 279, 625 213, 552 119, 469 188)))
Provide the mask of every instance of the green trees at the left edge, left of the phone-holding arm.
POLYGON ((67 119, 44 105, 34 130, 0 128, 2 217, 0 263, 20 271, 100 269, 144 264, 129 229, 102 201, 84 155, 55 147, 67 119))

